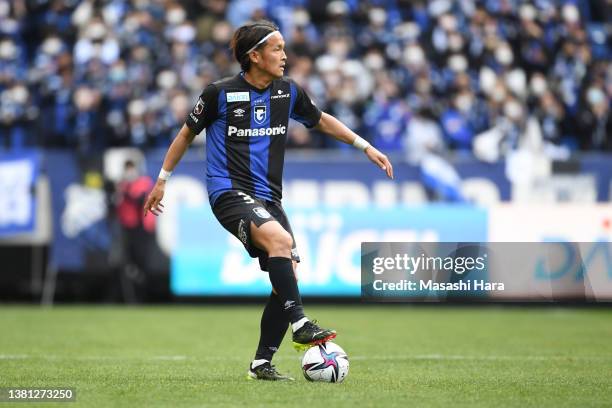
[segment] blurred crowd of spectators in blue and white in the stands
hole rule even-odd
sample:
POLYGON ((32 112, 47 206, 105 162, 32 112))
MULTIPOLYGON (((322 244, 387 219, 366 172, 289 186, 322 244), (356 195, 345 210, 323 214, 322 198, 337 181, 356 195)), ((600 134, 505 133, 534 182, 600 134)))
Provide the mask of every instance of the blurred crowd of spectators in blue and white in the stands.
MULTIPOLYGON (((167 146, 276 22, 288 75, 387 152, 612 150, 610 0, 0 0, 5 148, 167 146)), ((292 126, 292 148, 342 148, 292 126)))

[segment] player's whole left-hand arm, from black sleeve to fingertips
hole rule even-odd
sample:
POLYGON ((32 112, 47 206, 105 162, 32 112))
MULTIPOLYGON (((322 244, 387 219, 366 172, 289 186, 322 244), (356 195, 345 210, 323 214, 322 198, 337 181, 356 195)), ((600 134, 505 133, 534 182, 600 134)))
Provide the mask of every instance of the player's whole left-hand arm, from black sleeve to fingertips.
POLYGON ((217 87, 214 84, 208 85, 198 98, 193 110, 187 115, 185 124, 172 141, 168 152, 166 152, 159 177, 145 202, 143 208, 145 215, 149 211, 154 215, 159 215, 163 212, 164 206, 161 200, 164 198, 166 181, 196 135, 217 119, 218 96, 219 90, 217 87))

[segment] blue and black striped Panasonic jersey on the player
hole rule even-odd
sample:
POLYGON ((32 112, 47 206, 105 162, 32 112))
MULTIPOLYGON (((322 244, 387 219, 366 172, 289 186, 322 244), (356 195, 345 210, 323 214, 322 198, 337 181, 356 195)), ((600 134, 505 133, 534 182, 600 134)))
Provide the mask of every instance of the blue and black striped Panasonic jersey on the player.
POLYGON ((291 79, 257 89, 241 73, 204 89, 185 123, 196 134, 206 128, 211 204, 229 190, 281 200, 289 118, 306 127, 321 119, 321 110, 291 79))

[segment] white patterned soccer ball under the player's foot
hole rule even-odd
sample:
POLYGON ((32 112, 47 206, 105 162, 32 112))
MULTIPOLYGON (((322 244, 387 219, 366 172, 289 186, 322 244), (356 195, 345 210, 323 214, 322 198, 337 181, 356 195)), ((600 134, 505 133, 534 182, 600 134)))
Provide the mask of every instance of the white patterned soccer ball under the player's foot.
POLYGON ((302 358, 302 372, 308 381, 342 382, 348 366, 348 356, 332 342, 309 348, 302 358))

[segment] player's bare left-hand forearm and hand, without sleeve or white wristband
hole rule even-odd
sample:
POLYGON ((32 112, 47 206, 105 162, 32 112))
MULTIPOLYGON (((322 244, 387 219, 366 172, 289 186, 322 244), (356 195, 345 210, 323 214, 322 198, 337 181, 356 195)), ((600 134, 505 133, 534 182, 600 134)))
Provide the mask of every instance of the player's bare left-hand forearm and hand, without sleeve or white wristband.
MULTIPOLYGON (((196 134, 193 130, 191 130, 187 125, 183 125, 166 152, 164 164, 162 165, 164 170, 168 172, 172 172, 172 170, 174 170, 178 162, 187 151, 187 148, 191 142, 193 142, 195 136, 196 134)), ((154 215, 159 215, 163 212, 164 205, 161 203, 161 200, 164 198, 165 188, 166 180, 163 178, 158 178, 155 182, 155 186, 153 186, 153 190, 151 190, 151 193, 149 193, 149 197, 145 202, 145 216, 149 211, 151 211, 151 213, 154 215)))

